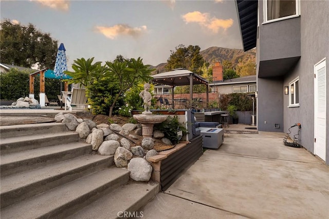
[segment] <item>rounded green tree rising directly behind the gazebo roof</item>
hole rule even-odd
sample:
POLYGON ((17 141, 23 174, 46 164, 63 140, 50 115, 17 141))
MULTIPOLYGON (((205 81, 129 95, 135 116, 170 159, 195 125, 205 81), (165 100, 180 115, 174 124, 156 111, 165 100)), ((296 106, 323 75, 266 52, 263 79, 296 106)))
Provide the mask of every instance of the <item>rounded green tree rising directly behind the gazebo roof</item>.
POLYGON ((166 69, 186 68, 200 74, 203 64, 206 62, 200 54, 199 46, 189 45, 185 47, 180 44, 175 47, 176 51, 170 50, 171 55, 167 60, 166 69))

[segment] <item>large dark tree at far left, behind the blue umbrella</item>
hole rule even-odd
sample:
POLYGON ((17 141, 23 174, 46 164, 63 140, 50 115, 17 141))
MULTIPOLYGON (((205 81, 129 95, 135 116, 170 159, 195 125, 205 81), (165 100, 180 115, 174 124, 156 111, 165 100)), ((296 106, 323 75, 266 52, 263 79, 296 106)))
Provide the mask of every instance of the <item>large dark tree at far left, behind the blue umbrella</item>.
POLYGON ((6 19, 1 22, 0 37, 1 63, 22 67, 38 63, 40 68, 50 69, 55 66, 58 42, 32 24, 12 24, 6 19))

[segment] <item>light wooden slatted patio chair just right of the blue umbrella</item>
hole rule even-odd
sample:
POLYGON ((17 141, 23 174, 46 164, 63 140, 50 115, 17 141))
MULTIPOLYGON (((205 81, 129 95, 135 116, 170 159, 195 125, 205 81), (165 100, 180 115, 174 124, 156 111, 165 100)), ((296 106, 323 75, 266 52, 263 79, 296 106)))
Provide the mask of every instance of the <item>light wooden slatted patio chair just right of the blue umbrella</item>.
POLYGON ((84 107, 88 105, 85 88, 72 87, 72 91, 66 92, 65 97, 65 111, 66 106, 68 106, 69 111, 72 111, 72 105, 84 107))

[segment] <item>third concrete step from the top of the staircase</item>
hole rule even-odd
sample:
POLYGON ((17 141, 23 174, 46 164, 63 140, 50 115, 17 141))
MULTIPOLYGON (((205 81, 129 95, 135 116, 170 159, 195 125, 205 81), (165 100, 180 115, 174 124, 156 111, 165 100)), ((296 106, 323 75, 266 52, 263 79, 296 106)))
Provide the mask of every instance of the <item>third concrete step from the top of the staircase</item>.
POLYGON ((1 177, 79 157, 92 152, 92 145, 82 142, 53 145, 2 155, 0 158, 1 177))

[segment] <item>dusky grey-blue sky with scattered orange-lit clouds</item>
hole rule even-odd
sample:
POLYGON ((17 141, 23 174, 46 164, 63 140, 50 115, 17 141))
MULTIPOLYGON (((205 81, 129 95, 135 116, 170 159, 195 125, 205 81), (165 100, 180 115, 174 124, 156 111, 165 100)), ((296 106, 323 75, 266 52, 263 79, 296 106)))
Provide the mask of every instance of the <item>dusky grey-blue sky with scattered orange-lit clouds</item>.
POLYGON ((0 10, 1 20, 31 23, 63 43, 69 69, 77 59, 105 62, 120 54, 156 66, 180 44, 242 49, 233 0, 1 0, 0 10))

